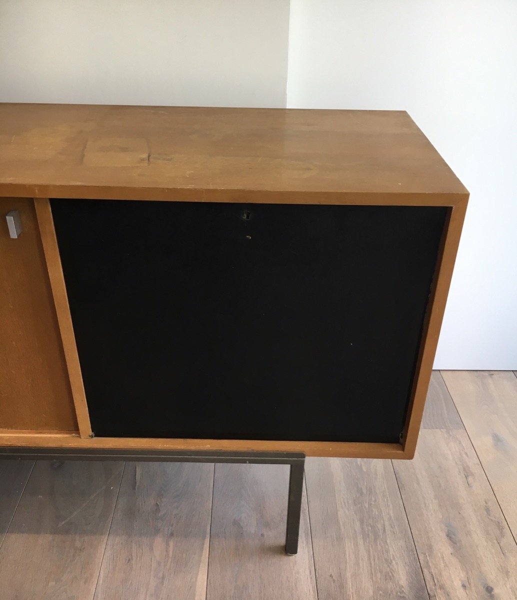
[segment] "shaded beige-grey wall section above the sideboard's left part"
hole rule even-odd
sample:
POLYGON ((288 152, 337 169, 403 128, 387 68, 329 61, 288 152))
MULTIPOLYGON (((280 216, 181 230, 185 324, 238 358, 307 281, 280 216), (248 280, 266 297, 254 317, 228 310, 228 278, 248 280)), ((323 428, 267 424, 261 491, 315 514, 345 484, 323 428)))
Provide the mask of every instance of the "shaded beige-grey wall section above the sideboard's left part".
POLYGON ((285 106, 288 0, 0 0, 0 101, 285 106))

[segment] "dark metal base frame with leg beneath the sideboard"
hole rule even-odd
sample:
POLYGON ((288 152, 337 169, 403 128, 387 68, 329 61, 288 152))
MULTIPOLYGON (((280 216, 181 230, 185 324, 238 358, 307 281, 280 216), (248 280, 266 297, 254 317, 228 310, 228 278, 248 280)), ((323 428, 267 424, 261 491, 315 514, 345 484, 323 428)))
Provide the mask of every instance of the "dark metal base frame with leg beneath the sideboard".
POLYGON ((288 464, 289 496, 285 554, 298 551, 300 515, 302 511, 303 473, 305 454, 302 452, 187 452, 176 450, 117 450, 82 448, 0 448, 0 459, 18 460, 124 460, 154 461, 158 463, 245 463, 288 464))

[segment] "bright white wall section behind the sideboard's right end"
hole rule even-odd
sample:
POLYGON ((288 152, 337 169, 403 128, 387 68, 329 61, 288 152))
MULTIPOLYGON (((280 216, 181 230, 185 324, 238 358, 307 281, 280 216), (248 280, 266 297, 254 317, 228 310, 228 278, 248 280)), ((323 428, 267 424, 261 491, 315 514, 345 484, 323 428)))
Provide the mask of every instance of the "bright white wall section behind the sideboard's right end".
POLYGON ((435 367, 517 369, 517 1, 291 0, 287 91, 410 113, 471 193, 435 367))

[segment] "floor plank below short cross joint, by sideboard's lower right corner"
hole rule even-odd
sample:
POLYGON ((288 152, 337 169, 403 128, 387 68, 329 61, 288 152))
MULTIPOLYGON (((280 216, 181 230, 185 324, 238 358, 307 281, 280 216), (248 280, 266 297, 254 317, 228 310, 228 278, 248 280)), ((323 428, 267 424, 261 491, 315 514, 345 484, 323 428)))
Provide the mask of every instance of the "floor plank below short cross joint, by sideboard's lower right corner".
POLYGON ((424 430, 393 461, 431 599, 517 598, 517 545, 465 431, 424 430))

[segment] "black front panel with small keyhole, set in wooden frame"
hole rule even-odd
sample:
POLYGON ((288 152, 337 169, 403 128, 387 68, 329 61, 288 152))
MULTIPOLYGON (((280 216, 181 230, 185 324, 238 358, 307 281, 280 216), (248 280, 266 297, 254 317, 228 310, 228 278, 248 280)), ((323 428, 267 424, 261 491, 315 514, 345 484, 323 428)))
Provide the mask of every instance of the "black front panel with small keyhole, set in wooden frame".
POLYGON ((95 435, 398 442, 446 211, 52 200, 95 435))

